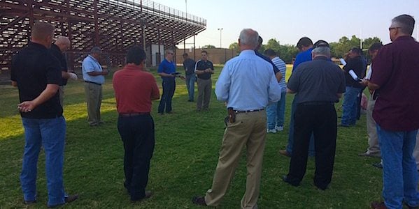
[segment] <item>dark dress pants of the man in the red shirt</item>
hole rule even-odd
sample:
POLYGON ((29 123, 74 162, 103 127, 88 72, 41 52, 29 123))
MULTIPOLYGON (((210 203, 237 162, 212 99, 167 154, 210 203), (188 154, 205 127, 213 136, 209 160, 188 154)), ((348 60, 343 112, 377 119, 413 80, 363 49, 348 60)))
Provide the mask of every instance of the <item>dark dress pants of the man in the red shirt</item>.
POLYGON ((145 196, 150 160, 155 146, 155 130, 152 117, 147 115, 119 116, 118 132, 124 143, 125 183, 132 201, 145 196))

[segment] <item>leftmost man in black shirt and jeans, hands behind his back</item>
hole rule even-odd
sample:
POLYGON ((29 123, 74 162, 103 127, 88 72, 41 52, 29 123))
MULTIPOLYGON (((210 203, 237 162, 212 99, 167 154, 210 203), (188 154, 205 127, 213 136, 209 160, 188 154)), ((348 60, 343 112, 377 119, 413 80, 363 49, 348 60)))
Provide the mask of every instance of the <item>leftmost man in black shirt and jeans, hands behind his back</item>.
POLYGON ((12 85, 19 89, 20 104, 17 108, 25 134, 20 174, 24 203, 36 202, 36 167, 43 146, 48 207, 60 206, 78 198, 77 195, 66 195, 62 180, 66 121, 59 104, 60 65, 48 51, 52 37, 52 24, 34 24, 31 42, 13 56, 10 71, 12 85))

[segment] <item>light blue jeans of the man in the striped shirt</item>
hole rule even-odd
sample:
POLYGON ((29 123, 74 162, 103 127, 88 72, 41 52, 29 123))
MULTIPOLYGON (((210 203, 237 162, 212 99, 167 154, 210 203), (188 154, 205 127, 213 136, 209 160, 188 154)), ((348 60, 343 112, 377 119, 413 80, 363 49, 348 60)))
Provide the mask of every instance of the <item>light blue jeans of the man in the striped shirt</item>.
POLYGON ((276 126, 284 125, 285 116, 285 94, 281 93, 280 100, 267 106, 267 128, 274 129, 276 126))

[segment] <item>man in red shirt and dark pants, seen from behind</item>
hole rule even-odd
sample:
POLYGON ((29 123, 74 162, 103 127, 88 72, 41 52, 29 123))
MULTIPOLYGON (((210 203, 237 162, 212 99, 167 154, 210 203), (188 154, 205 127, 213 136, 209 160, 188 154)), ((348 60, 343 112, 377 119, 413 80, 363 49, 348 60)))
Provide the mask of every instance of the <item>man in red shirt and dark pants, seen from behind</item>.
POLYGON ((113 75, 118 132, 124 144, 125 183, 131 201, 151 196, 145 191, 150 160, 155 145, 151 101, 159 99, 155 78, 145 71, 145 52, 141 47, 128 49, 127 65, 113 75))

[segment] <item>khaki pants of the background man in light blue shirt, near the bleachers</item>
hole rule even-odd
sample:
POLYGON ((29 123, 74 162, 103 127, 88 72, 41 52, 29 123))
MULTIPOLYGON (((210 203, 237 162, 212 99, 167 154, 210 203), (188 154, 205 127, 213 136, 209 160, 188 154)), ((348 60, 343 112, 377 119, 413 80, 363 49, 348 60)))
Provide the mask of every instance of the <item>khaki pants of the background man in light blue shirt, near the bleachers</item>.
POLYGON ((87 122, 90 125, 99 125, 101 122, 102 86, 85 83, 87 102, 87 122))

